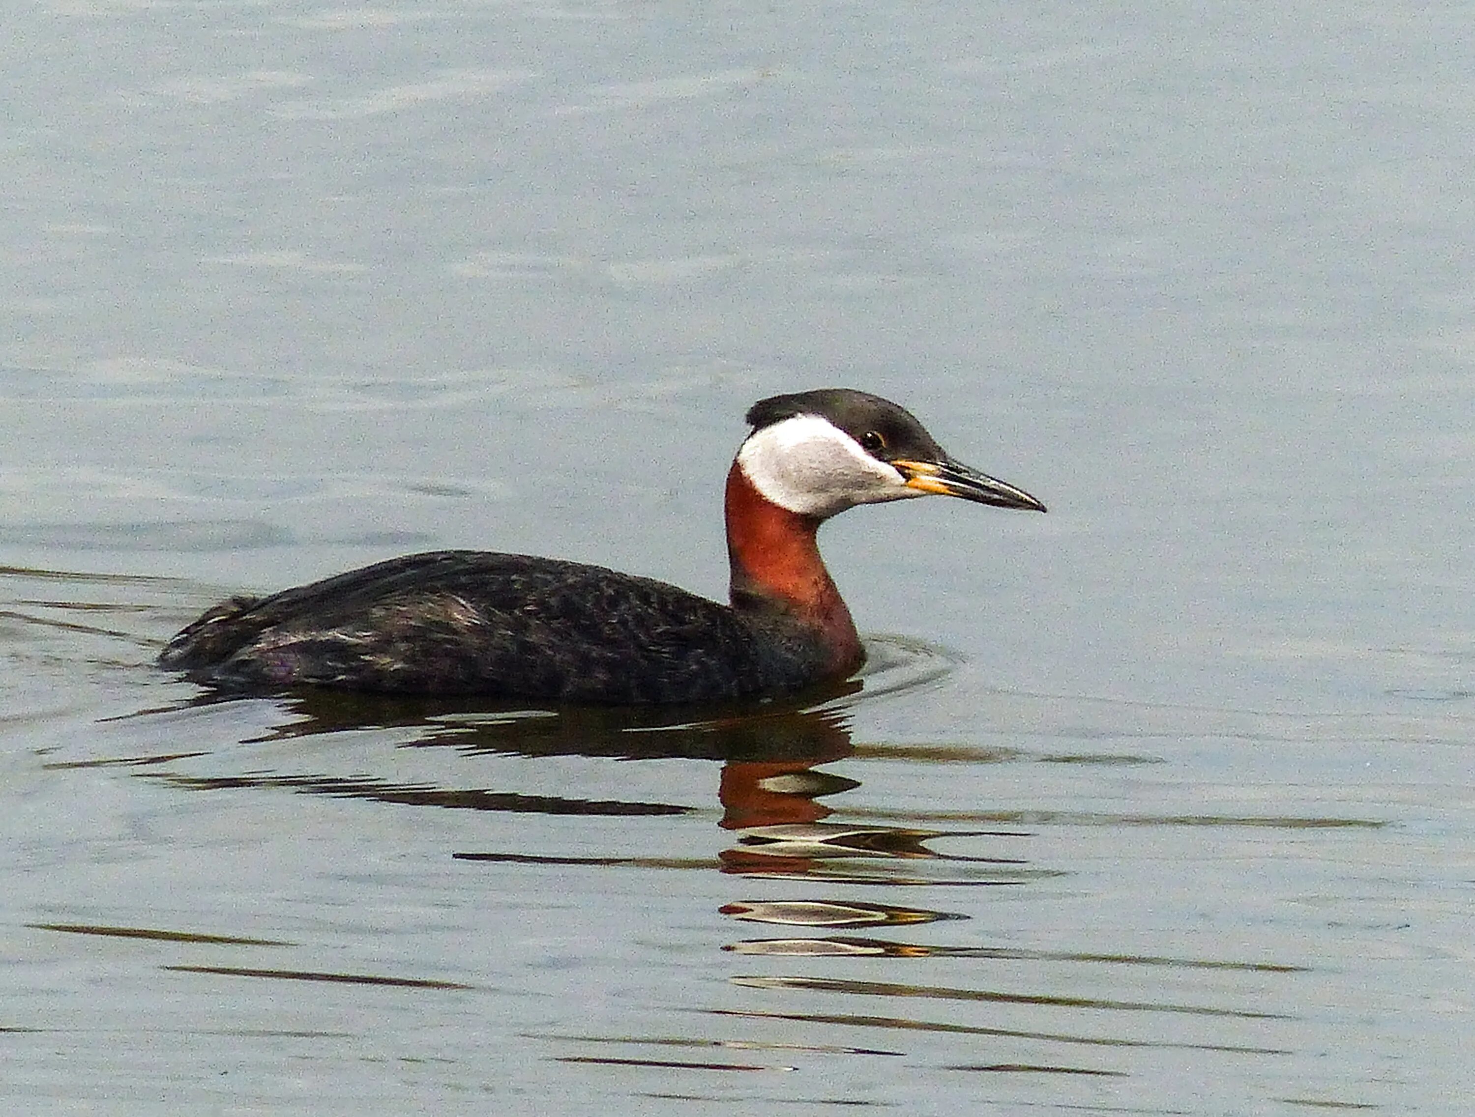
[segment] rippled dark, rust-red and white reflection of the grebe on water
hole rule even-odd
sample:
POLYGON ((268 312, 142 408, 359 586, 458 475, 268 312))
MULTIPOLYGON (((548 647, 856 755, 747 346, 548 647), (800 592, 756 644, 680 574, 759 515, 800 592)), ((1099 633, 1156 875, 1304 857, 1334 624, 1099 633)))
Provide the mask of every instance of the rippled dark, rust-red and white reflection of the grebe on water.
MULTIPOLYGON (((344 735, 351 740, 364 731, 391 731, 398 750, 426 750, 451 759, 447 768, 426 756, 432 780, 409 782, 403 777, 330 772, 252 771, 193 775, 173 763, 140 768, 139 775, 162 780, 192 790, 257 788, 288 790, 296 794, 332 799, 358 799, 398 806, 435 806, 456 810, 496 810, 509 813, 584 815, 584 816, 670 816, 690 815, 699 805, 650 802, 639 796, 609 794, 583 797, 577 787, 559 784, 541 794, 476 785, 463 780, 463 771, 502 771, 476 763, 478 757, 521 756, 530 759, 586 756, 618 760, 712 760, 721 765, 715 780, 721 806, 718 825, 732 840, 717 855, 670 858, 643 855, 640 850, 611 850, 599 856, 569 856, 556 850, 459 849, 451 856, 463 862, 646 866, 658 869, 707 869, 749 881, 786 878, 823 886, 825 892, 785 899, 733 896, 723 903, 723 915, 748 924, 766 925, 783 937, 743 939, 724 949, 740 953, 854 953, 857 950, 892 953, 925 952, 910 942, 882 942, 833 937, 836 931, 857 928, 894 928, 935 920, 959 918, 945 911, 888 902, 888 890, 928 884, 988 886, 1024 884, 1038 875, 1053 875, 1024 862, 993 856, 965 856, 938 852, 928 843, 935 838, 981 837, 979 831, 934 831, 873 822, 879 810, 867 805, 847 821, 833 821, 835 796, 860 788, 854 778, 826 771, 823 765, 853 754, 851 706, 863 691, 864 679, 830 684, 785 701, 701 707, 562 707, 555 710, 494 704, 475 700, 404 700, 335 691, 299 691, 279 697, 276 725, 255 737, 258 743, 292 744, 304 738, 344 735), (285 716, 282 716, 285 715, 285 716), (469 763, 460 763, 468 760, 469 763), (836 897, 833 886, 879 887, 867 899, 836 897), (780 930, 782 928, 782 930, 780 930), (829 931, 829 936, 823 936, 829 931), (798 933, 799 937, 795 937, 798 933), (819 934, 817 934, 819 933, 819 934)), ((869 696, 867 696, 869 697, 869 696)), ((217 700, 198 700, 208 707, 217 700)), ((378 749, 379 746, 372 746, 378 749)), ((313 750, 273 750, 277 763, 291 756, 332 756, 313 750)), ((358 762, 363 753, 353 756, 358 762)), ((260 754, 252 757, 260 762, 260 754)), ((388 760, 388 757, 386 757, 388 760)), ((391 765, 386 763, 388 769, 391 765)), ((400 768, 400 765, 394 765, 400 768)), ((403 771, 403 769, 401 769, 403 771)), ((600 787, 612 781, 602 778, 600 787)), ((642 781, 636 781, 640 785, 642 781)), ((630 784, 627 782, 625 787, 630 784)), ((649 784, 645 784, 649 787, 649 784)), ((583 790, 589 790, 584 784, 583 790)), ((984 853, 993 853, 1003 837, 1015 833, 988 831, 984 853)), ((1009 843, 1004 843, 1006 846, 1009 843)), ((1018 852, 1006 849, 1006 852, 1018 852)), ((932 948, 928 948, 932 949, 932 948)))

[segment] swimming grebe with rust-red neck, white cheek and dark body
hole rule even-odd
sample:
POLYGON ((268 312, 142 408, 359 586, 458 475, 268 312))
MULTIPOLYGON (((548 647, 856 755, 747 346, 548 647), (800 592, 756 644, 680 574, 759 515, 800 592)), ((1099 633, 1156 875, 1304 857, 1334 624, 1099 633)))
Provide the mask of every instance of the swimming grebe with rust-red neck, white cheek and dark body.
POLYGON ((857 504, 941 494, 1044 511, 953 461, 910 413, 842 388, 761 399, 727 473, 732 604, 558 558, 434 551, 233 597, 159 665, 229 691, 299 684, 568 703, 774 697, 866 657, 816 545, 857 504))

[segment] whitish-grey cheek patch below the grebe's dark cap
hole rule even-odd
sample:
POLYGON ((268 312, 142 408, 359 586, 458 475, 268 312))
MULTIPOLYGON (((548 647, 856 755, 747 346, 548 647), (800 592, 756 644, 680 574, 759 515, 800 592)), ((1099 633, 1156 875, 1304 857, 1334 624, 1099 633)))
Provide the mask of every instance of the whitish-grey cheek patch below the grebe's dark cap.
POLYGON ((819 416, 794 416, 755 432, 738 451, 738 466, 766 500, 799 516, 825 519, 857 504, 923 495, 819 416))

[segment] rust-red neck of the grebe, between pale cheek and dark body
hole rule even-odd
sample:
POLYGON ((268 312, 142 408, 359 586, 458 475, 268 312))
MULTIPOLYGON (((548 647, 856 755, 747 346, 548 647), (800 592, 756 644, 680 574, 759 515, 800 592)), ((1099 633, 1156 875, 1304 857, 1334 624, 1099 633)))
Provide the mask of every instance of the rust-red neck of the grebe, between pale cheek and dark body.
POLYGON ((860 635, 814 539, 820 520, 780 508, 735 461, 727 473, 727 560, 733 609, 789 613, 830 650, 836 673, 864 660, 860 635))

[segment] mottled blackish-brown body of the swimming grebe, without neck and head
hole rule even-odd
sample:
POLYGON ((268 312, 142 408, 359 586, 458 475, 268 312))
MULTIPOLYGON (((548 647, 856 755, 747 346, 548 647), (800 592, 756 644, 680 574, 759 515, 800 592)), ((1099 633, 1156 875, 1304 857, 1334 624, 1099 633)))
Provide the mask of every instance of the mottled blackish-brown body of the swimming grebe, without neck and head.
POLYGON ((825 659, 782 613, 738 612, 602 566, 435 551, 232 598, 174 637, 159 663, 226 690, 637 704, 783 693, 825 659))

